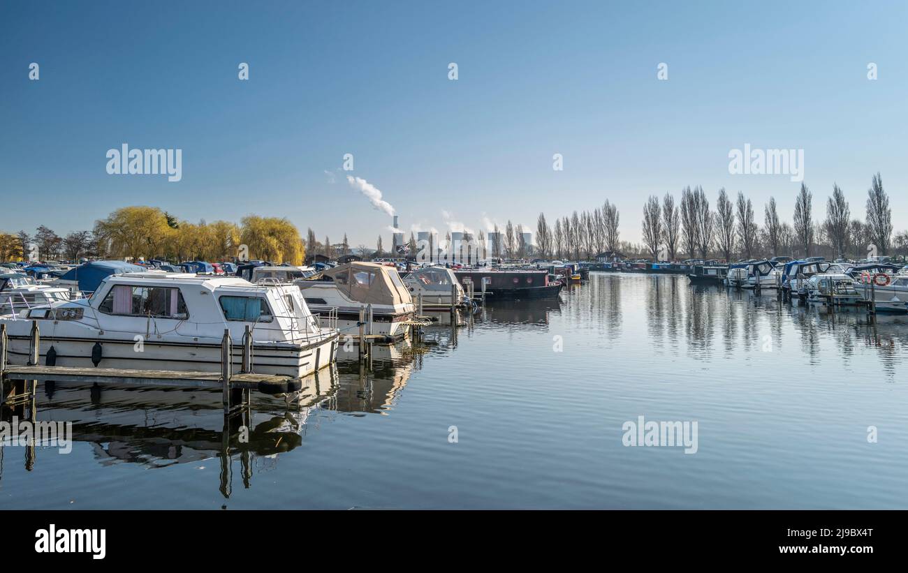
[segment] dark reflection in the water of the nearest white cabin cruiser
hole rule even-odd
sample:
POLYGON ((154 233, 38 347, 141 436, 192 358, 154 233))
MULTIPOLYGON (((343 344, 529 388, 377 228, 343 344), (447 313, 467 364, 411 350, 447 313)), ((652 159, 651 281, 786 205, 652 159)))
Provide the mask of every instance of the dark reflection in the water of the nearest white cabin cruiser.
POLYGON ((220 392, 46 382, 37 419, 71 422, 74 441, 92 443, 103 465, 164 467, 218 458, 220 490, 230 497, 234 457, 249 487, 256 458, 276 463, 279 454, 302 444, 312 417, 331 407, 338 388, 334 365, 301 382, 299 393, 286 400, 252 393, 251 405, 230 416, 223 414, 220 392))

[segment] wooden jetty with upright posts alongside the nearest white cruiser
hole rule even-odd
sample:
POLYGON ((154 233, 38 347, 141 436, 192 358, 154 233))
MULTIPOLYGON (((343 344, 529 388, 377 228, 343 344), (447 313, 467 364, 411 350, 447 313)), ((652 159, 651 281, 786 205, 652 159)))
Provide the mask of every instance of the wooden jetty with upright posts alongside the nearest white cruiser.
POLYGON ((279 374, 252 372, 252 333, 246 326, 242 344, 242 372, 232 372, 232 340, 224 329, 221 343, 221 372, 178 372, 171 370, 129 370, 122 368, 74 368, 39 363, 41 334, 37 321, 32 323, 29 360, 25 366, 7 361, 6 325, 0 325, 0 404, 22 403, 35 395, 38 381, 57 384, 107 384, 139 386, 176 386, 183 388, 220 389, 224 413, 232 413, 249 403, 249 391, 292 393, 301 389, 300 378, 279 374))

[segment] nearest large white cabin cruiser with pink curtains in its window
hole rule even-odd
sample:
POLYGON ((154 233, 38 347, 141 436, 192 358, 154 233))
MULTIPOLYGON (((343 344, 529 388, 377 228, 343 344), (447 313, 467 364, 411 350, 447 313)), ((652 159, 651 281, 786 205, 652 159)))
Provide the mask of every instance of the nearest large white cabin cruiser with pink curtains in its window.
POLYGON ((300 377, 334 362, 338 344, 333 317, 312 316, 299 289, 239 277, 113 275, 90 298, 15 318, 0 319, 10 364, 26 364, 33 321, 40 327, 41 364, 58 366, 220 372, 227 329, 239 372, 248 325, 253 372, 300 377))

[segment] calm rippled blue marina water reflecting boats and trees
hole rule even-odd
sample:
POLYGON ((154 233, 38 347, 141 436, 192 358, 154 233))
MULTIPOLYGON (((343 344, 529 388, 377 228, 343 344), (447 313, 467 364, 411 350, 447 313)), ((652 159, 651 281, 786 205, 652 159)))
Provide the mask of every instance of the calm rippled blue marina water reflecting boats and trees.
POLYGON ((253 394, 246 444, 217 393, 41 387, 73 452, 2 448, 0 509, 908 507, 908 318, 670 276, 561 299, 342 361, 301 406, 253 394), (625 447, 638 415, 698 451, 625 447))

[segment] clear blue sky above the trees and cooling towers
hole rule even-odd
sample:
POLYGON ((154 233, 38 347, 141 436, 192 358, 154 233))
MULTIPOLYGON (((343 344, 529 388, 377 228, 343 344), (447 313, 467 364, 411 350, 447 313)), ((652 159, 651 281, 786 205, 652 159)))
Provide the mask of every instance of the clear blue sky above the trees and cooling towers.
POLYGON ((686 185, 714 203, 720 187, 742 190, 761 222, 773 195, 791 219, 799 183, 729 174, 745 143, 804 149, 820 219, 834 182, 863 218, 881 171, 895 228, 908 228, 904 3, 0 6, 4 231, 64 234, 153 205, 191 221, 287 217, 354 246, 382 234, 387 247, 390 218, 348 174, 407 231, 535 228, 539 211, 609 199, 636 241, 646 196, 686 185), (182 149, 183 179, 107 174, 123 142, 182 149))

